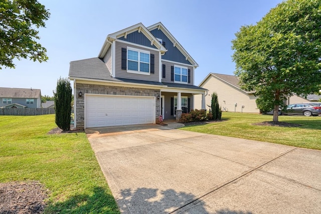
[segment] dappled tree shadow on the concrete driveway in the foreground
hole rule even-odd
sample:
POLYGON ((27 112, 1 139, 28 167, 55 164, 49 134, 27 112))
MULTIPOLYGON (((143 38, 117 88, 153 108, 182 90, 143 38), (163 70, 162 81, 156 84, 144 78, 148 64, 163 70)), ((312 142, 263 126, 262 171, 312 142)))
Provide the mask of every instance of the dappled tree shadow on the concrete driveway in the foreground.
MULTIPOLYGON (((156 188, 137 188, 136 190, 123 189, 118 201, 122 211, 128 208, 130 213, 199 213, 210 214, 206 210, 205 201, 186 192, 177 192, 174 189, 159 190, 156 188), (127 208, 126 208, 127 207, 127 208)), ((228 208, 216 210, 220 214, 251 214, 230 210, 228 208)), ((213 214, 214 214, 213 213, 213 214)))

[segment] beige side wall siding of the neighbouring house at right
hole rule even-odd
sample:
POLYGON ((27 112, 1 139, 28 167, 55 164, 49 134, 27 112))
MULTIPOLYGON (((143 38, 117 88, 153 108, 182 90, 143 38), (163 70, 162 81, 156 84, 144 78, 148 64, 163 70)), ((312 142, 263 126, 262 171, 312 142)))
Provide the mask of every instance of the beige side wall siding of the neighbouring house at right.
MULTIPOLYGON (((213 76, 210 76, 200 87, 208 89, 208 95, 205 97, 206 109, 211 105, 211 96, 213 92, 218 95, 219 105, 222 111, 260 113, 256 106, 256 98, 253 94, 247 94, 240 89, 229 85, 213 76), (237 104, 236 107, 234 104, 237 104), (242 109, 242 106, 244 108, 242 109)), ((196 109, 202 108, 202 95, 194 95, 194 105, 196 109)))

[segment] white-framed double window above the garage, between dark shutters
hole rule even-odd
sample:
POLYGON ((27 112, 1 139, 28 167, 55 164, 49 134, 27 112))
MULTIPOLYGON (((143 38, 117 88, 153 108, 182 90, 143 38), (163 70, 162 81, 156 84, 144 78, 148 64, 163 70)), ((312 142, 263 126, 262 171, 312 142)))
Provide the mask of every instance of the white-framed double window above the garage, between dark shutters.
POLYGON ((127 71, 149 74, 150 53, 137 49, 127 49, 127 71))

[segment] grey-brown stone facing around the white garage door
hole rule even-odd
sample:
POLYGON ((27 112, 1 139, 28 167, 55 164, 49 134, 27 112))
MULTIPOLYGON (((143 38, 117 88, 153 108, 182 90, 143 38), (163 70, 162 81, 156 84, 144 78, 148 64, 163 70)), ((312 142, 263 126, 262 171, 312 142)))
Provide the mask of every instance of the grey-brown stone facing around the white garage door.
POLYGON ((161 99, 157 100, 158 96, 161 96, 159 89, 146 89, 146 88, 131 88, 120 86, 104 86, 94 84, 81 84, 77 83, 76 91, 76 126, 78 129, 84 129, 85 127, 85 94, 106 94, 106 95, 125 95, 125 96, 150 96, 156 97, 155 99, 155 121, 159 122, 159 115, 161 115, 161 99), (78 97, 78 93, 82 92, 82 97, 78 97))

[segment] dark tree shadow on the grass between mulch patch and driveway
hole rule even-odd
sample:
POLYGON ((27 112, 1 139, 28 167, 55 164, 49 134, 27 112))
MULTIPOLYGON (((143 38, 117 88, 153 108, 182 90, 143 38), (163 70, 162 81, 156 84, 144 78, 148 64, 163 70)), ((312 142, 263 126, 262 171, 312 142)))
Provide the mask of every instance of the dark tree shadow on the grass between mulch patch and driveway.
POLYGON ((44 213, 120 213, 111 194, 94 187, 92 194, 76 194, 63 202, 50 203, 44 213))

